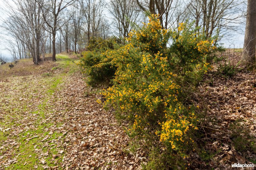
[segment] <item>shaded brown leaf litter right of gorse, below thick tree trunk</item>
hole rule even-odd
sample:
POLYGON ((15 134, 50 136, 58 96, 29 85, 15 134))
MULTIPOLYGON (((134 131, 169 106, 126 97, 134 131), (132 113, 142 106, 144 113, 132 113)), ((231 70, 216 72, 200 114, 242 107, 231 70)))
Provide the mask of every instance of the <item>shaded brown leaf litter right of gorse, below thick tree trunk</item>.
MULTIPOLYGON (((228 56, 230 63, 236 65, 241 53, 228 56)), ((217 66, 207 74, 195 94, 195 105, 205 114, 199 129, 203 137, 197 144, 210 153, 210 158, 199 156, 196 151, 191 153, 188 162, 195 169, 232 169, 231 164, 252 164, 250 160, 256 159, 255 151, 237 151, 233 142, 238 135, 256 139, 256 74, 243 71, 227 79, 216 74, 217 66), (241 129, 246 129, 246 134, 241 129)))

